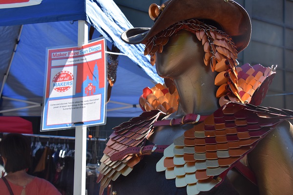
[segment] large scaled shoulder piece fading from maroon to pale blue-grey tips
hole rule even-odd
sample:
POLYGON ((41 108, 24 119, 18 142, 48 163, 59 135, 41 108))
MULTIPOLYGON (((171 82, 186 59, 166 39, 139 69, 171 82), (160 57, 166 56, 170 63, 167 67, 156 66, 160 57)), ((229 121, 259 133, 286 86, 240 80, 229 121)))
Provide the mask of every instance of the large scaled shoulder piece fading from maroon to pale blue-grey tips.
POLYGON ((273 127, 293 111, 229 102, 174 140, 157 163, 188 195, 209 191, 273 127))

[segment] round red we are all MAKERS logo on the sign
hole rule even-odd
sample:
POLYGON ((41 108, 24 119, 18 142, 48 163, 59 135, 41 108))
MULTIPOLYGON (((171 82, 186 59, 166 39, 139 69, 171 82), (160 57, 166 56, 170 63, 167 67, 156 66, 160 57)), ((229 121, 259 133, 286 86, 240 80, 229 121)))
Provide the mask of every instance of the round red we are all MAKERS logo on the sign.
POLYGON ((69 71, 61 71, 53 78, 53 88, 58 92, 65 92, 73 85, 73 75, 69 71))

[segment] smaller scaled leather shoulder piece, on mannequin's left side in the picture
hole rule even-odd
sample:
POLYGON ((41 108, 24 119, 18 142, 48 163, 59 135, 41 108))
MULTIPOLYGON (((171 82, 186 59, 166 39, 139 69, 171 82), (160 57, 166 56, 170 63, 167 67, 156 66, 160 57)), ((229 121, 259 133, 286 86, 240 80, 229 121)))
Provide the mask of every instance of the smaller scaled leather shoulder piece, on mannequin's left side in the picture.
POLYGON ((120 175, 127 176, 141 159, 141 156, 129 154, 111 161, 110 156, 129 147, 142 147, 146 137, 151 133, 152 124, 161 116, 166 115, 159 110, 144 112, 139 117, 134 117, 114 128, 98 169, 100 174, 97 183, 101 182, 100 195, 111 180, 115 181, 120 175))

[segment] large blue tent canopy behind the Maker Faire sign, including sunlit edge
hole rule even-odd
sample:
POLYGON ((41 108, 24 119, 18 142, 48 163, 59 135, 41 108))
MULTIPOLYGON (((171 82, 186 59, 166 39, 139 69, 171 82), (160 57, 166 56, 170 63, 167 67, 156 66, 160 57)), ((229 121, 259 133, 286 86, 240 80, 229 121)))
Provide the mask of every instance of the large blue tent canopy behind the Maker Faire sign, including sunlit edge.
POLYGON ((139 115, 141 109, 137 104, 143 88, 162 82, 149 59, 143 56, 144 46, 128 45, 120 39, 121 33, 132 25, 112 0, 42 0, 40 5, 1 9, 0 19, 1 84, 21 33, 0 100, 0 114, 4 116, 41 116, 40 106, 13 109, 34 105, 27 101, 42 104, 46 47, 76 45, 76 20, 86 20, 96 29, 94 38, 103 35, 109 48, 115 44, 127 55, 119 57, 117 80, 107 104, 107 117, 139 115), (20 12, 23 12, 23 17, 20 12), (122 107, 128 108, 120 109, 122 107), (7 109, 12 111, 2 112, 7 109))

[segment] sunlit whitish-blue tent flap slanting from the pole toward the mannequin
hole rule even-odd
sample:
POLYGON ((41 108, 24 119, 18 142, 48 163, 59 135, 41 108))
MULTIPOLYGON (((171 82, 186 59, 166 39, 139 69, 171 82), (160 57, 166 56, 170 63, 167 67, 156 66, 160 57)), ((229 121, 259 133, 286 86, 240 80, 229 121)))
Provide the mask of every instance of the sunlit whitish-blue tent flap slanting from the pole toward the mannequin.
POLYGON ((121 10, 105 0, 98 0, 98 4, 94 1, 86 1, 86 14, 88 16, 88 22, 95 27, 106 39, 110 39, 111 42, 119 43, 117 47, 126 54, 134 63, 146 72, 156 82, 162 82, 162 78, 159 78, 154 67, 150 66, 149 59, 144 54, 144 45, 129 45, 120 39, 121 34, 133 28, 130 22, 125 18, 121 10), (93 18, 100 20, 91 20, 93 18))

